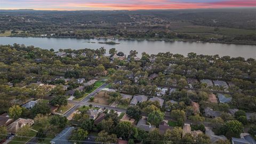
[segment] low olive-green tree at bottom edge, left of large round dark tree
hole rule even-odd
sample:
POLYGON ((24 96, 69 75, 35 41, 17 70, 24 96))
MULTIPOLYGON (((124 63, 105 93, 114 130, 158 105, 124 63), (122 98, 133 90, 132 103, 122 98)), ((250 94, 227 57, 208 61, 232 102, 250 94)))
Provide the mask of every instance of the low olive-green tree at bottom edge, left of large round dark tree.
POLYGON ((107 132, 101 131, 98 133, 98 137, 95 139, 95 141, 102 143, 116 143, 117 137, 116 134, 109 135, 107 132))

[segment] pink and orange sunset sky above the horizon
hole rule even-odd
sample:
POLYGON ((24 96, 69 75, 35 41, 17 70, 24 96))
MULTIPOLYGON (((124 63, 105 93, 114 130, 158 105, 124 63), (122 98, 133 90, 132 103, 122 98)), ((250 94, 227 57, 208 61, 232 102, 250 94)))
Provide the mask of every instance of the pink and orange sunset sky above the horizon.
POLYGON ((256 0, 0 0, 0 9, 156 10, 256 7, 256 0))

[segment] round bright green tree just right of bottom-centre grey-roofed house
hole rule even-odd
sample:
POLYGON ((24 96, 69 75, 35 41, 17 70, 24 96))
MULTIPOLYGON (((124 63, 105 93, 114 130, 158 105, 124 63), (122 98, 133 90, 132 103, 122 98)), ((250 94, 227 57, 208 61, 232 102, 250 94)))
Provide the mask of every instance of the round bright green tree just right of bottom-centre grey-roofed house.
POLYGON ((159 125, 164 120, 164 113, 160 110, 154 110, 148 114, 148 122, 152 125, 159 125))

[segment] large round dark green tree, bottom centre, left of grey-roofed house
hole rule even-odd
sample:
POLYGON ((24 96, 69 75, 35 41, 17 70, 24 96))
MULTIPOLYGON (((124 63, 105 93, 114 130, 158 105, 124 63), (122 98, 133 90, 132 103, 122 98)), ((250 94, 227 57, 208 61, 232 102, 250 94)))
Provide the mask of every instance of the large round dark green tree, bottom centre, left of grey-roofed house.
POLYGON ((117 134, 117 137, 122 137, 124 139, 136 138, 138 135, 137 128, 130 122, 121 122, 117 124, 115 133, 117 134))

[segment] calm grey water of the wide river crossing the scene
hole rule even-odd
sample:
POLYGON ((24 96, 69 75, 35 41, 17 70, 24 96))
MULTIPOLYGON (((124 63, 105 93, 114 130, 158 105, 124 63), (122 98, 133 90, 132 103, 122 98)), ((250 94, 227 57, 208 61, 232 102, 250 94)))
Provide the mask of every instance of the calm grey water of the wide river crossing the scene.
POLYGON ((158 52, 171 52, 187 55, 189 52, 197 54, 230 57, 256 58, 255 45, 236 45, 220 43, 200 43, 200 42, 166 42, 166 41, 133 41, 123 39, 77 39, 77 38, 39 38, 39 37, 0 37, 0 44, 25 44, 34 45, 43 49, 98 49, 105 47, 108 50, 115 47, 117 51, 129 54, 130 50, 137 50, 140 56, 142 52, 157 54, 158 52), (99 44, 98 42, 114 41, 117 45, 99 44), (90 42, 90 43, 89 43, 90 42), (91 43, 93 42, 93 43, 91 43))

